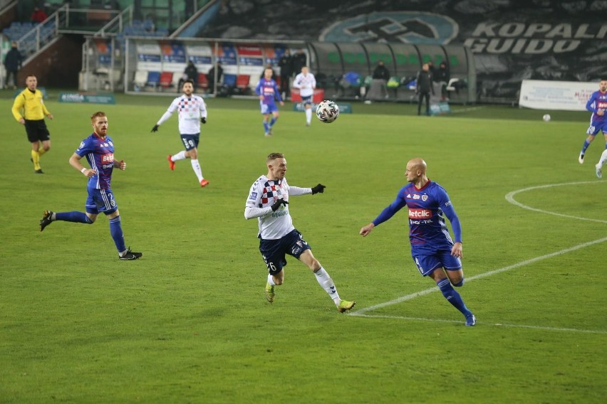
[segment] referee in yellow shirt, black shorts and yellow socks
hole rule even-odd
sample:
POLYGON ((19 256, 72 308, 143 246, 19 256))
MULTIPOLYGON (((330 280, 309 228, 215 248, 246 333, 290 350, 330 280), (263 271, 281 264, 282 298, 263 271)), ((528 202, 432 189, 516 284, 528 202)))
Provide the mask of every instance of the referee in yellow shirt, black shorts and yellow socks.
POLYGON ((31 161, 36 174, 44 174, 40 168, 40 156, 51 149, 51 134, 48 133, 44 117, 53 119, 42 101, 42 92, 36 89, 38 80, 35 75, 26 78, 26 89, 15 98, 13 116, 25 125, 27 138, 31 142, 31 161), (23 112, 23 113, 21 113, 23 112))

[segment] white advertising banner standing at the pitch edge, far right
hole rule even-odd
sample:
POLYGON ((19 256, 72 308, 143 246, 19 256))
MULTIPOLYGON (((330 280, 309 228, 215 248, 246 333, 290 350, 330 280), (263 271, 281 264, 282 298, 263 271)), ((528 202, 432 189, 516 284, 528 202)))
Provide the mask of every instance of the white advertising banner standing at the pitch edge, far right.
POLYGON ((523 80, 519 106, 534 110, 585 111, 596 83, 579 81, 523 80))

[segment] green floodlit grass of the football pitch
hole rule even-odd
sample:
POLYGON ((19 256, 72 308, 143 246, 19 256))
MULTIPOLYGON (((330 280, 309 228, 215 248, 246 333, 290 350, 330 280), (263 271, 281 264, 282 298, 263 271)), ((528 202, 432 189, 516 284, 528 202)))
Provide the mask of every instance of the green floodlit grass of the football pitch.
POLYGON ((167 166, 182 149, 177 117, 150 133, 170 97, 76 105, 49 92, 52 149, 36 175, 10 95, 0 92, 1 403, 603 402, 606 181, 593 171, 600 137, 577 162, 587 113, 546 123, 544 111, 480 105, 417 117, 373 103, 306 127, 286 105, 266 138, 255 100, 210 99, 200 188, 189 161, 167 166), (138 261, 118 260, 103 217, 38 231, 44 209, 83 211, 85 178, 68 158, 97 110, 128 162, 113 190, 138 261), (289 184, 327 186, 289 207, 341 297, 356 300, 352 314, 293 259, 276 302, 264 299, 257 224, 243 211, 272 151, 286 154, 289 184), (415 156, 462 221, 472 328, 425 292, 402 212, 358 235, 415 156))

